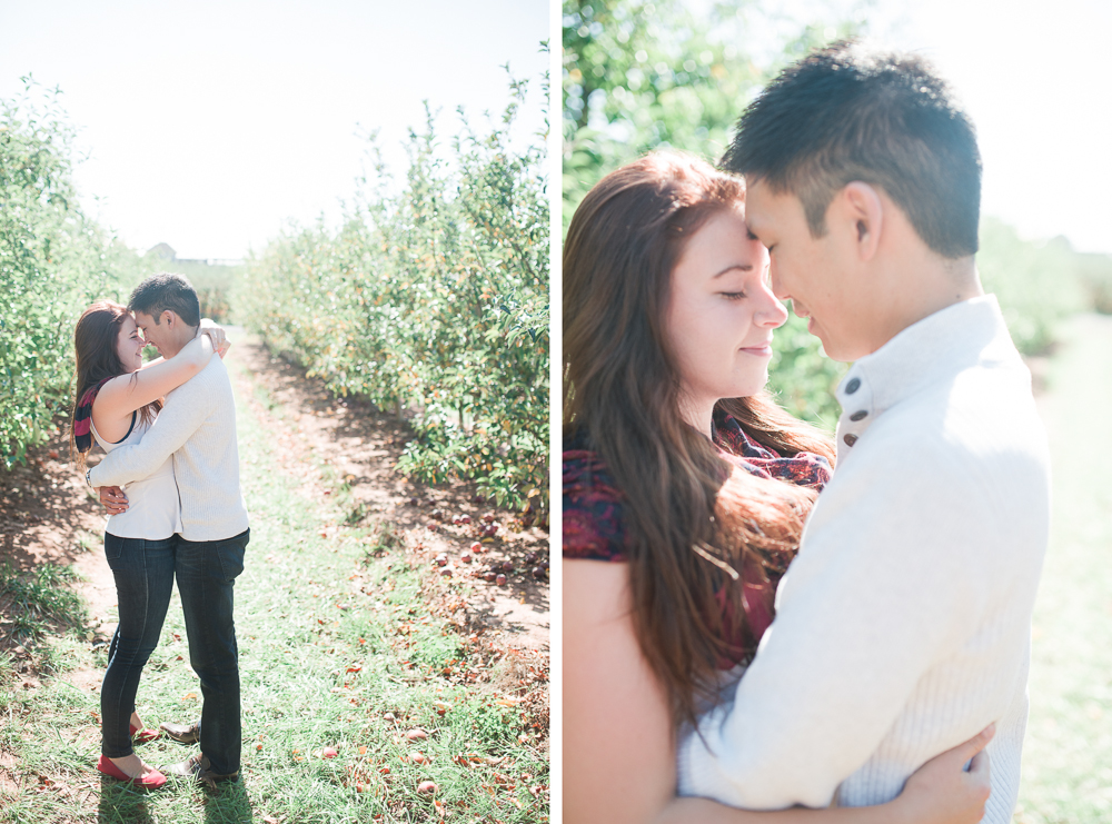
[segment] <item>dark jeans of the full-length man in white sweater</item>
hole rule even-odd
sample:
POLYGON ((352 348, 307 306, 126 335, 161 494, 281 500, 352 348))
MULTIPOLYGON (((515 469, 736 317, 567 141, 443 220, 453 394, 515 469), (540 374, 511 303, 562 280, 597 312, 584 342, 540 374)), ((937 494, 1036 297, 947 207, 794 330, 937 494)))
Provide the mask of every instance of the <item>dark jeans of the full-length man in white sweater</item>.
POLYGON ((239 648, 232 618, 236 577, 251 530, 224 540, 178 538, 175 572, 186 615, 189 664, 201 681, 201 753, 218 775, 239 771, 239 648))

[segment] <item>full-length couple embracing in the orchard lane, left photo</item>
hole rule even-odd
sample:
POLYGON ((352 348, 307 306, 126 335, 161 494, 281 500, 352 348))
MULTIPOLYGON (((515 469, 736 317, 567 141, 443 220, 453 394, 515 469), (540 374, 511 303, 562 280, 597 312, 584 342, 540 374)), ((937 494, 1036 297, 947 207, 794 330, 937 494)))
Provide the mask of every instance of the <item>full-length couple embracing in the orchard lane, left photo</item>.
POLYGON ((143 280, 128 307, 93 304, 75 331, 73 446, 81 463, 93 438, 108 453, 85 475, 111 513, 105 554, 120 615, 101 685, 97 766, 145 788, 162 786, 163 773, 210 784, 239 774, 232 606, 250 529, 227 348, 224 330, 202 324, 192 286, 173 274, 143 280), (147 345, 161 357, 145 364, 147 345), (203 707, 196 723, 161 726, 177 741, 199 742, 200 753, 160 772, 135 753, 133 743, 159 735, 145 728, 135 702, 175 580, 203 707))

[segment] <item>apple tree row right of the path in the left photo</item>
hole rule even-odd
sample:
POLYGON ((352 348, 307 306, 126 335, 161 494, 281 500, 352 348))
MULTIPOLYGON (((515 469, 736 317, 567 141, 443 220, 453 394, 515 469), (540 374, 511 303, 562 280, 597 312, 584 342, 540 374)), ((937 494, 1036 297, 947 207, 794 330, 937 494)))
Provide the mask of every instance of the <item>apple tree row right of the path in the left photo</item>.
POLYGON ((404 416, 398 469, 477 482, 544 523, 548 494, 548 203, 544 135, 466 121, 441 149, 433 118, 394 181, 379 162, 338 229, 288 230, 254 255, 234 310, 272 351, 404 416))

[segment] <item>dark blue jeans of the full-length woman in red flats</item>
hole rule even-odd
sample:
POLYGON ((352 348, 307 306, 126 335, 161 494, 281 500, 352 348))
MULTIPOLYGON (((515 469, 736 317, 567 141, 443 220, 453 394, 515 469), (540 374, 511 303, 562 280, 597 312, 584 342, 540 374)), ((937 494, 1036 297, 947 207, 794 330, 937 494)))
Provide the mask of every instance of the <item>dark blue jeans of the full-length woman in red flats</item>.
POLYGON ((158 646, 173 589, 177 536, 161 540, 105 534, 105 557, 116 576, 120 626, 108 649, 108 671, 100 687, 102 738, 109 758, 131 755, 128 731, 136 708, 139 676, 158 646))

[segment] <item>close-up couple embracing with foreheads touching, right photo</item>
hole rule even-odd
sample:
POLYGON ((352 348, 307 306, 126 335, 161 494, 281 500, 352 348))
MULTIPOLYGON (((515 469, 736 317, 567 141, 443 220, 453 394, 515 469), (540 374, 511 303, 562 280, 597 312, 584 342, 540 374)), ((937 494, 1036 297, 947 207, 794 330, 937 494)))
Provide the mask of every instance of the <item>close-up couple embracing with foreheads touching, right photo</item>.
POLYGON ((1049 458, 973 125, 838 43, 724 166, 649 155, 567 234, 565 820, 1005 824, 1049 458), (833 441, 764 390, 788 299, 854 361, 833 441))

